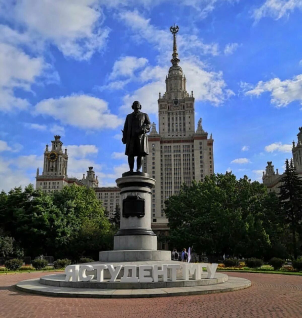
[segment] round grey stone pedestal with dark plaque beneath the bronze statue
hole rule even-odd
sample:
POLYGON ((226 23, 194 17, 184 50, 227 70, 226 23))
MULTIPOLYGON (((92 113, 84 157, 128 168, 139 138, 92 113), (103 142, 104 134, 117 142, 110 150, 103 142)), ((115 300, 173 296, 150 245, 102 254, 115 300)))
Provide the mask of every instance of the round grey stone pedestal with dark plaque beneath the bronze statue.
POLYGON ((155 179, 148 173, 124 173, 116 180, 120 192, 120 229, 114 236, 114 250, 157 250, 157 236, 151 230, 151 198, 155 179))

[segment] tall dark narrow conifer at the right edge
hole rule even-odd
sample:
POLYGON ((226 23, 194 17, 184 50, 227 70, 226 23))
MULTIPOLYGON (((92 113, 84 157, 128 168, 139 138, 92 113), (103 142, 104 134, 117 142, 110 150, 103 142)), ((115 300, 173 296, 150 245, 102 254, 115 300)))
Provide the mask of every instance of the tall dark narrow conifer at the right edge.
POLYGON ((294 259, 298 256, 297 236, 301 232, 302 222, 302 179, 299 178, 291 159, 285 162, 285 174, 281 178, 280 203, 285 222, 290 226, 292 233, 292 249, 294 259))

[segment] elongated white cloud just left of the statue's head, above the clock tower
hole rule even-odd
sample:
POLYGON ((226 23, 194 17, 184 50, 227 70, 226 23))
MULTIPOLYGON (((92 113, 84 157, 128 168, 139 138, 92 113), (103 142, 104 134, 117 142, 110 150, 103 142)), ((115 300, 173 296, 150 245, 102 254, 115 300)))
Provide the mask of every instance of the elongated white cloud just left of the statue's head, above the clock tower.
POLYGON ((35 114, 52 116, 63 124, 83 129, 117 128, 123 120, 110 114, 108 103, 88 95, 62 96, 42 100, 35 114))

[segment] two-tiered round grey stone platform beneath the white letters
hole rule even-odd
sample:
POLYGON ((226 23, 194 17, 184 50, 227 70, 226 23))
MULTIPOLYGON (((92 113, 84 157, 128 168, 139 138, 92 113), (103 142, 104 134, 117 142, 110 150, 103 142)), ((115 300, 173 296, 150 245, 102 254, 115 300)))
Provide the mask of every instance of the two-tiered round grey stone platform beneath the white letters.
POLYGON ((58 297, 138 298, 230 292, 251 286, 249 280, 216 273, 213 279, 177 280, 158 283, 65 282, 64 274, 47 275, 17 283, 18 290, 58 297), (99 285, 102 284, 102 285, 99 285), (70 286, 70 287, 67 287, 70 286), (99 288, 102 286, 103 288, 99 288), (146 288, 148 287, 148 288, 146 288))

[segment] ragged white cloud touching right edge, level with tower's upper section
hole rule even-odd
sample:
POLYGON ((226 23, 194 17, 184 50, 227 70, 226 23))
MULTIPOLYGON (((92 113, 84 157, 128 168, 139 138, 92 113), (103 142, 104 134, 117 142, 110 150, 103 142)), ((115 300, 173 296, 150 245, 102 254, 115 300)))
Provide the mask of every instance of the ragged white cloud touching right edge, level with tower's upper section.
POLYGON ((259 81, 253 89, 245 92, 245 95, 259 96, 264 92, 271 93, 271 103, 276 107, 285 107, 293 101, 302 103, 302 74, 284 81, 279 78, 267 82, 259 81))

